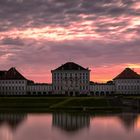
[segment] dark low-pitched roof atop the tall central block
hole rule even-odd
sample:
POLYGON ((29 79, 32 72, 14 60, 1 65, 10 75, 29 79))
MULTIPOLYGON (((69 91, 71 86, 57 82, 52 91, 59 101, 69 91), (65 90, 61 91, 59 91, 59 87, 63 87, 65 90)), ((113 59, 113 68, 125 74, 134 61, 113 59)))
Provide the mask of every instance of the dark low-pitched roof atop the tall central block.
POLYGON ((88 70, 74 62, 67 62, 55 70, 88 70))

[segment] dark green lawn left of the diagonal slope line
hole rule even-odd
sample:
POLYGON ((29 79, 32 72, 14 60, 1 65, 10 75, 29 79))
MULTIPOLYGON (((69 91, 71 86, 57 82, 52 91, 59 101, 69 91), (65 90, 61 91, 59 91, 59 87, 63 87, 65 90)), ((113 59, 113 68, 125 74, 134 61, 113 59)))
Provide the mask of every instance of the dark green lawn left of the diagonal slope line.
POLYGON ((49 107, 66 97, 0 97, 1 107, 49 107))

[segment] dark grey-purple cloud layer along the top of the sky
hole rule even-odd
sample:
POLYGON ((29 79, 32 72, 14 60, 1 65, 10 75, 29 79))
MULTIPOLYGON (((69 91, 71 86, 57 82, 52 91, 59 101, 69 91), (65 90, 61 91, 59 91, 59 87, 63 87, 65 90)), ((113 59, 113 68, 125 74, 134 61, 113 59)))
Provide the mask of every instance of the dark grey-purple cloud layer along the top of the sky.
POLYGON ((97 19, 100 16, 138 16, 140 11, 132 8, 136 2, 138 0, 1 0, 0 31, 14 27, 67 26, 81 20, 80 14, 97 19))

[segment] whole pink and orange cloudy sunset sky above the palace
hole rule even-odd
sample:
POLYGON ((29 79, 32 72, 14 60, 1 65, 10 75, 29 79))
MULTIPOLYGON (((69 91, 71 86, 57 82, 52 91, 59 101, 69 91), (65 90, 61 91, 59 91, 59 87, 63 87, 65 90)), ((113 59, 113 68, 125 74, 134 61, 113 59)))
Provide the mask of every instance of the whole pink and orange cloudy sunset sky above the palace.
POLYGON ((67 61, 98 82, 140 73, 140 0, 0 0, 1 70, 51 82, 67 61))

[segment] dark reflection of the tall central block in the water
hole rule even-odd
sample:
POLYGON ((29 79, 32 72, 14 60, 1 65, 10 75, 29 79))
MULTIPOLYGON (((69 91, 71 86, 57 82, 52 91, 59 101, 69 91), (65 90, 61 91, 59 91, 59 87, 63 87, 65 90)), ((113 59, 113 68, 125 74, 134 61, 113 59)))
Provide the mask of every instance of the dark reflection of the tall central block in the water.
POLYGON ((54 113, 52 125, 68 132, 88 128, 90 116, 88 114, 54 113))

